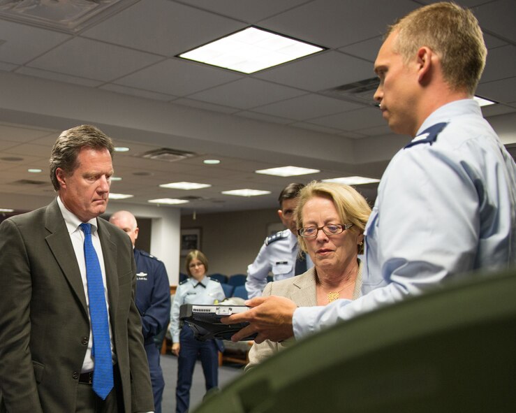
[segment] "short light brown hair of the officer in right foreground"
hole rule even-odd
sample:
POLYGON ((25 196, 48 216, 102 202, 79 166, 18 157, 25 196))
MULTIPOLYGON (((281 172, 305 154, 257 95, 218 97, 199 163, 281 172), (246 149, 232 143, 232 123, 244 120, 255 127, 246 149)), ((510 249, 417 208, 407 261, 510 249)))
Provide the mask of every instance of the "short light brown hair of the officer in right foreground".
POLYGON ((443 77, 455 91, 475 93, 487 49, 478 20, 467 8, 441 2, 423 6, 389 27, 397 32, 395 51, 407 63, 427 46, 441 58, 443 77))

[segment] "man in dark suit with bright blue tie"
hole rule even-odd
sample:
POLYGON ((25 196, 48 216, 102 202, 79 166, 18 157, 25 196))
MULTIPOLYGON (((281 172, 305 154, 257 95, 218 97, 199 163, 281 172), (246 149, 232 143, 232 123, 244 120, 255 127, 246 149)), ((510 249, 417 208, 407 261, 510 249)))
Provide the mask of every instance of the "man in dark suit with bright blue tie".
POLYGON ((50 159, 57 199, 0 225, 0 412, 154 410, 131 242, 98 218, 108 204, 113 149, 94 126, 61 133, 50 159), (94 297, 89 289, 99 280, 104 294, 94 297), (92 333, 99 299, 102 337, 92 333))

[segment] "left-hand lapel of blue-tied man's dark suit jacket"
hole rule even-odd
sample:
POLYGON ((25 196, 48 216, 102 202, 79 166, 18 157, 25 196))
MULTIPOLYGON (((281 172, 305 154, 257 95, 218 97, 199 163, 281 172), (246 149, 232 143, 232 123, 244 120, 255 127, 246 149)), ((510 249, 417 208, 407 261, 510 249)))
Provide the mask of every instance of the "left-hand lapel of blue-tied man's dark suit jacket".
POLYGON ((54 202, 47 206, 45 229, 50 232, 50 235, 45 238, 47 245, 59 267, 61 267, 72 291, 82 304, 84 314, 87 316, 86 296, 84 296, 84 286, 79 266, 77 259, 75 259, 75 251, 70 240, 70 234, 68 234, 68 229, 64 223, 63 215, 61 215, 61 210, 59 210, 59 205, 57 205, 57 200, 54 200, 54 202))

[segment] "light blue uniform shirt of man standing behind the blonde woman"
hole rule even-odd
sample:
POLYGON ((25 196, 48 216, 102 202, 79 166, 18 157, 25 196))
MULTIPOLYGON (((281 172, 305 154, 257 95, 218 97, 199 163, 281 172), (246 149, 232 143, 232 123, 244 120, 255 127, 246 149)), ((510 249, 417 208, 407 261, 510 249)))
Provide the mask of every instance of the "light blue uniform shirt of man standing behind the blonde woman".
MULTIPOLYGON (((249 298, 262 295, 269 273, 272 273, 274 281, 293 277, 298 253, 297 236, 290 229, 265 238, 256 259, 247 267, 246 290, 249 298)), ((307 270, 313 266, 307 255, 307 270)))

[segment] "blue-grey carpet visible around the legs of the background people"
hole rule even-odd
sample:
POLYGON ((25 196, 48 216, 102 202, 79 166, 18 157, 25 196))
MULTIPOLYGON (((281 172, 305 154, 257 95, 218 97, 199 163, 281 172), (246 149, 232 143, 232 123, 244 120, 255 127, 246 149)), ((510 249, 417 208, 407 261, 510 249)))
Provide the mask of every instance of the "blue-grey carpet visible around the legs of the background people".
MULTIPOLYGON (((175 412, 175 384, 177 382, 177 357, 170 354, 161 356, 161 368, 163 369, 163 377, 165 378, 165 391, 163 392, 163 403, 161 410, 163 413, 175 412)), ((222 365, 219 367, 219 388, 223 388, 225 384, 231 382, 244 373, 242 366, 222 365)), ((205 379, 202 375, 202 367, 200 361, 197 362, 195 370, 193 370, 193 383, 190 392, 190 410, 196 407, 205 396, 205 379)))

